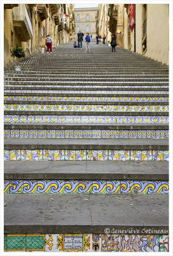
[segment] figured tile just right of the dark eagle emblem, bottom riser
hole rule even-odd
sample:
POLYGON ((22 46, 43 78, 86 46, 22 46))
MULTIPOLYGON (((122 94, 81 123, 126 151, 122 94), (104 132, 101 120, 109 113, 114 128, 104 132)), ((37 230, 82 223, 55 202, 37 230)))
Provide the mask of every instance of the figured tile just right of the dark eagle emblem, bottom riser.
POLYGON ((102 252, 119 252, 121 245, 120 235, 102 235, 102 252))

